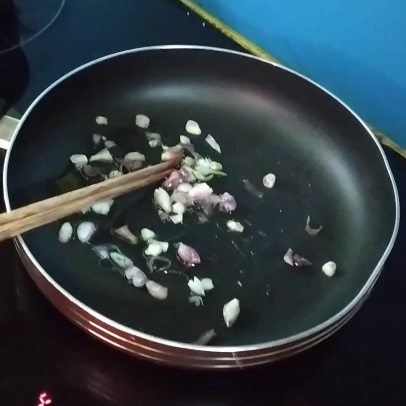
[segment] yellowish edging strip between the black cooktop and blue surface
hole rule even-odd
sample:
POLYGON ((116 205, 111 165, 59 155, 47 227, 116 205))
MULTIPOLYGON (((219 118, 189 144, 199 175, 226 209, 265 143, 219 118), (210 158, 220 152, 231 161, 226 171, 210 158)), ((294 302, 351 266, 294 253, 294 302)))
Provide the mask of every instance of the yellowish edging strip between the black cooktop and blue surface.
MULTIPOLYGON (((244 37, 240 32, 236 31, 235 29, 225 24, 223 21, 215 17, 213 14, 209 13, 203 7, 197 5, 191 0, 178 0, 178 1, 181 2, 186 8, 193 11, 193 13, 197 14, 199 17, 207 21, 209 24, 213 25, 226 37, 230 38, 232 41, 236 42, 241 47, 246 49, 248 52, 252 53, 255 56, 259 56, 260 58, 267 59, 272 62, 283 65, 283 63, 280 62, 277 58, 266 52, 264 49, 262 49, 252 41, 250 41, 248 38, 244 37)), ((374 128, 369 124, 368 126, 375 133, 375 136, 378 138, 381 144, 389 147, 390 149, 397 152, 399 155, 401 155, 403 158, 406 159, 406 150, 400 147, 400 145, 396 144, 382 131, 374 128)))

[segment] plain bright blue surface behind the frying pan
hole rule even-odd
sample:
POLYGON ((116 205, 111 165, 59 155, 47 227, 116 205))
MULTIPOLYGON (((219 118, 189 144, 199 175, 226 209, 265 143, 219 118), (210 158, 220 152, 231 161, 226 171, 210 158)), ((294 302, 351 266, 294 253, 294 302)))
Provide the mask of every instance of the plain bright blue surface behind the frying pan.
POLYGON ((406 147, 405 0, 197 0, 406 147))

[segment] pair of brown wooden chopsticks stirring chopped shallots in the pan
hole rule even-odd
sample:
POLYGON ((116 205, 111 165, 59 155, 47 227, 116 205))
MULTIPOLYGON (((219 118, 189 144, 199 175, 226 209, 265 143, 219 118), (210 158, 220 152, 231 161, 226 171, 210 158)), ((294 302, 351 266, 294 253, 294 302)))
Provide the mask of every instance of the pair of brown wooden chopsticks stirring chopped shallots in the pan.
POLYGON ((88 209, 98 201, 109 200, 160 181, 170 175, 180 162, 181 158, 171 159, 0 214, 0 241, 88 209))

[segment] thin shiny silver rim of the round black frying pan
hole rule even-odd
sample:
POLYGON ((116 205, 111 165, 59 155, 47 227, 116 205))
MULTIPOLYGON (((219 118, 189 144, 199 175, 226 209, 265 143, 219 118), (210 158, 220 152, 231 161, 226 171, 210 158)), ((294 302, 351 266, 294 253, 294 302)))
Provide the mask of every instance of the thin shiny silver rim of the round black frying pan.
POLYGON ((338 101, 344 108, 346 108, 365 128, 365 130, 369 133, 369 136, 375 141, 382 158, 385 163, 386 170, 388 172, 389 178, 392 183, 393 187, 393 193, 395 197, 395 213, 396 213, 396 218, 395 218, 395 223, 393 227, 393 232, 391 235, 391 238, 389 240, 389 243, 382 254, 380 260, 378 261, 377 265, 375 266, 373 272, 371 273, 370 277, 367 279, 366 283, 364 286, 361 288, 361 290, 357 293, 357 295, 338 313, 335 315, 331 316, 329 319, 323 321, 322 323, 309 328, 306 331, 302 331, 297 334, 290 335, 288 337, 284 337, 279 340, 274 340, 274 341, 269 341, 269 342, 263 342, 263 343, 258 343, 258 344, 249 344, 249 345, 241 345, 241 346, 202 346, 202 345, 197 345, 197 344, 187 344, 187 343, 182 343, 182 342, 177 342, 177 341, 172 341, 172 340, 167 340, 167 339, 162 339, 160 337, 147 334, 141 331, 138 331, 136 329, 124 326, 106 316, 103 314, 100 314, 96 312, 95 310, 91 309, 88 307, 85 303, 81 302, 78 300, 75 296, 67 292, 62 286, 60 286, 56 281, 54 281, 51 276, 46 272, 46 270, 40 265, 40 263, 37 261, 37 259, 32 255, 30 250, 28 249, 27 245, 25 244, 23 238, 21 235, 18 235, 16 239, 18 240, 21 248, 27 255, 27 257, 30 259, 32 264, 37 268, 37 270, 42 274, 42 276, 48 281, 48 283, 52 284, 57 290, 60 291, 61 294, 63 294, 65 297, 67 297, 70 301, 72 301, 76 306, 81 308, 83 311, 86 313, 90 314, 92 317, 100 320, 101 322, 104 322, 108 325, 110 325, 113 328, 116 328, 118 330, 121 330, 123 332, 126 332, 127 334, 131 334, 137 337, 140 337, 141 339, 144 340, 149 340, 152 342, 155 342, 159 345, 163 346, 168 346, 171 348, 176 348, 176 349, 184 349, 186 351, 191 350, 191 351, 202 351, 206 353, 211 353, 211 352, 223 352, 223 353, 238 353, 238 352, 243 352, 243 351, 257 351, 257 350, 262 350, 262 349, 271 349, 271 348, 277 348, 280 346, 286 346, 289 344, 292 344, 296 341, 306 339, 306 337, 312 336, 318 332, 320 332, 323 329, 326 329, 328 327, 333 326, 335 323, 339 322, 343 317, 345 317, 348 313, 350 313, 358 304, 358 302, 365 296, 365 294, 368 293, 369 288, 374 284, 374 280, 379 276, 382 266, 384 265, 386 259, 389 256, 389 253, 391 252, 393 245, 396 240, 397 232, 399 229, 399 221, 400 221, 400 205, 399 205, 399 195, 395 183, 395 179, 393 177, 391 168, 389 166, 389 162, 387 160, 387 157, 385 155, 385 152, 379 143, 378 139, 376 138, 375 134, 370 130, 370 128, 365 124, 365 122, 355 113, 347 104, 344 103, 339 97, 335 96, 333 93, 331 93, 329 90, 324 88, 323 86, 319 85, 312 79, 308 78, 307 76, 304 76, 286 66, 281 65, 280 63, 276 63, 274 61, 266 60, 263 58, 260 58, 255 55, 250 55, 244 52, 240 51, 234 51, 234 50, 229 50, 225 48, 217 48, 217 47, 210 47, 210 46, 198 46, 198 45, 156 45, 156 46, 148 46, 148 47, 142 47, 142 48, 133 48, 133 49, 128 49, 116 53, 112 53, 109 55, 105 55, 103 57, 94 59, 90 62, 87 62, 81 66, 78 66, 76 69, 72 70, 71 72, 66 73, 62 77, 60 77, 58 80, 53 82, 51 85, 49 85, 45 90, 43 90, 35 100, 32 101, 31 105, 28 107, 28 109, 24 112, 22 118, 20 119, 17 127, 14 130, 13 136, 10 140, 10 147, 6 153, 5 161, 4 161, 4 169, 3 169, 3 197, 6 205, 6 210, 7 212, 11 211, 11 206, 10 206, 10 199, 9 199, 9 193, 8 193, 8 183, 7 183, 7 175, 8 175, 8 164, 10 160, 10 155, 11 151, 14 145, 14 142, 17 138, 18 132, 23 125, 24 121, 30 114, 30 112, 35 108, 35 106, 39 103, 39 101, 48 93, 50 92, 54 87, 56 87, 59 83, 64 81, 65 79, 73 76, 74 74, 86 69, 89 66, 92 66, 96 63, 121 56, 121 55, 126 55, 126 54, 131 54, 131 53, 137 53, 137 52, 145 52, 145 51, 152 51, 152 50, 179 50, 179 49, 187 49, 187 50, 201 50, 201 51, 212 51, 212 52, 220 52, 220 53, 229 53, 233 55, 238 55, 241 57, 246 57, 246 58, 252 58, 255 59, 259 62, 262 63, 268 63, 270 65, 273 65, 275 67, 278 67, 279 69, 282 69, 284 71, 287 71, 293 75, 296 75, 300 77, 303 80, 306 80, 310 83, 312 83, 314 86, 318 87, 319 89, 323 90, 326 92, 328 95, 333 97, 336 101, 338 101))

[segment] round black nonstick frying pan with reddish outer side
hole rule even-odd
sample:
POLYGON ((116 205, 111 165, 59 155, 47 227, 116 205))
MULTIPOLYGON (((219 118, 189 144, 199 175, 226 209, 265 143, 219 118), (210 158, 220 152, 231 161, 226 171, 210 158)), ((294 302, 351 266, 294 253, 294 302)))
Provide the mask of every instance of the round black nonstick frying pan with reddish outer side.
MULTIPOLYGON (((220 161, 228 174, 210 185, 216 193, 234 195, 238 207, 204 224, 191 214, 175 225, 159 220, 151 202, 154 187, 115 201, 112 217, 134 233, 151 228, 160 240, 182 241, 202 258, 201 265, 180 274, 151 276, 168 287, 164 301, 100 266, 88 245, 58 243, 60 224, 20 236, 16 247, 29 274, 66 317, 122 351, 201 368, 292 355, 352 317, 375 284, 398 229, 398 195, 387 159, 341 100, 251 55, 149 47, 108 55, 65 75, 33 102, 14 133, 4 167, 7 210, 58 193, 55 181, 69 171, 69 156, 93 153, 94 132, 127 152, 145 153, 147 164, 159 161, 160 151, 149 148, 144 130, 134 124, 139 113, 150 117, 149 129, 166 145, 177 144, 186 121, 196 120, 202 129, 201 136, 191 136, 196 150, 220 161), (98 115, 109 124, 97 126, 98 115), (221 155, 205 143, 208 133, 221 155), (273 189, 262 186, 267 173, 276 174, 273 189), (244 179, 263 197, 250 193, 244 179), (304 231, 308 215, 323 225, 316 236, 304 231), (244 232, 227 232, 229 218, 243 222, 244 232), (287 248, 313 266, 287 265, 287 248), (330 260, 337 263, 332 278, 321 272, 330 260), (188 301, 187 280, 194 276, 214 282, 204 306, 188 301), (233 297, 240 299, 241 314, 227 328, 222 308, 233 297), (217 337, 209 345, 193 344, 211 328, 217 337)), ((112 220, 100 217, 81 218, 108 229, 112 220)), ((108 232, 95 239, 117 244, 146 268, 142 244, 128 246, 108 232)), ((175 258, 173 263, 178 266, 175 258)))

